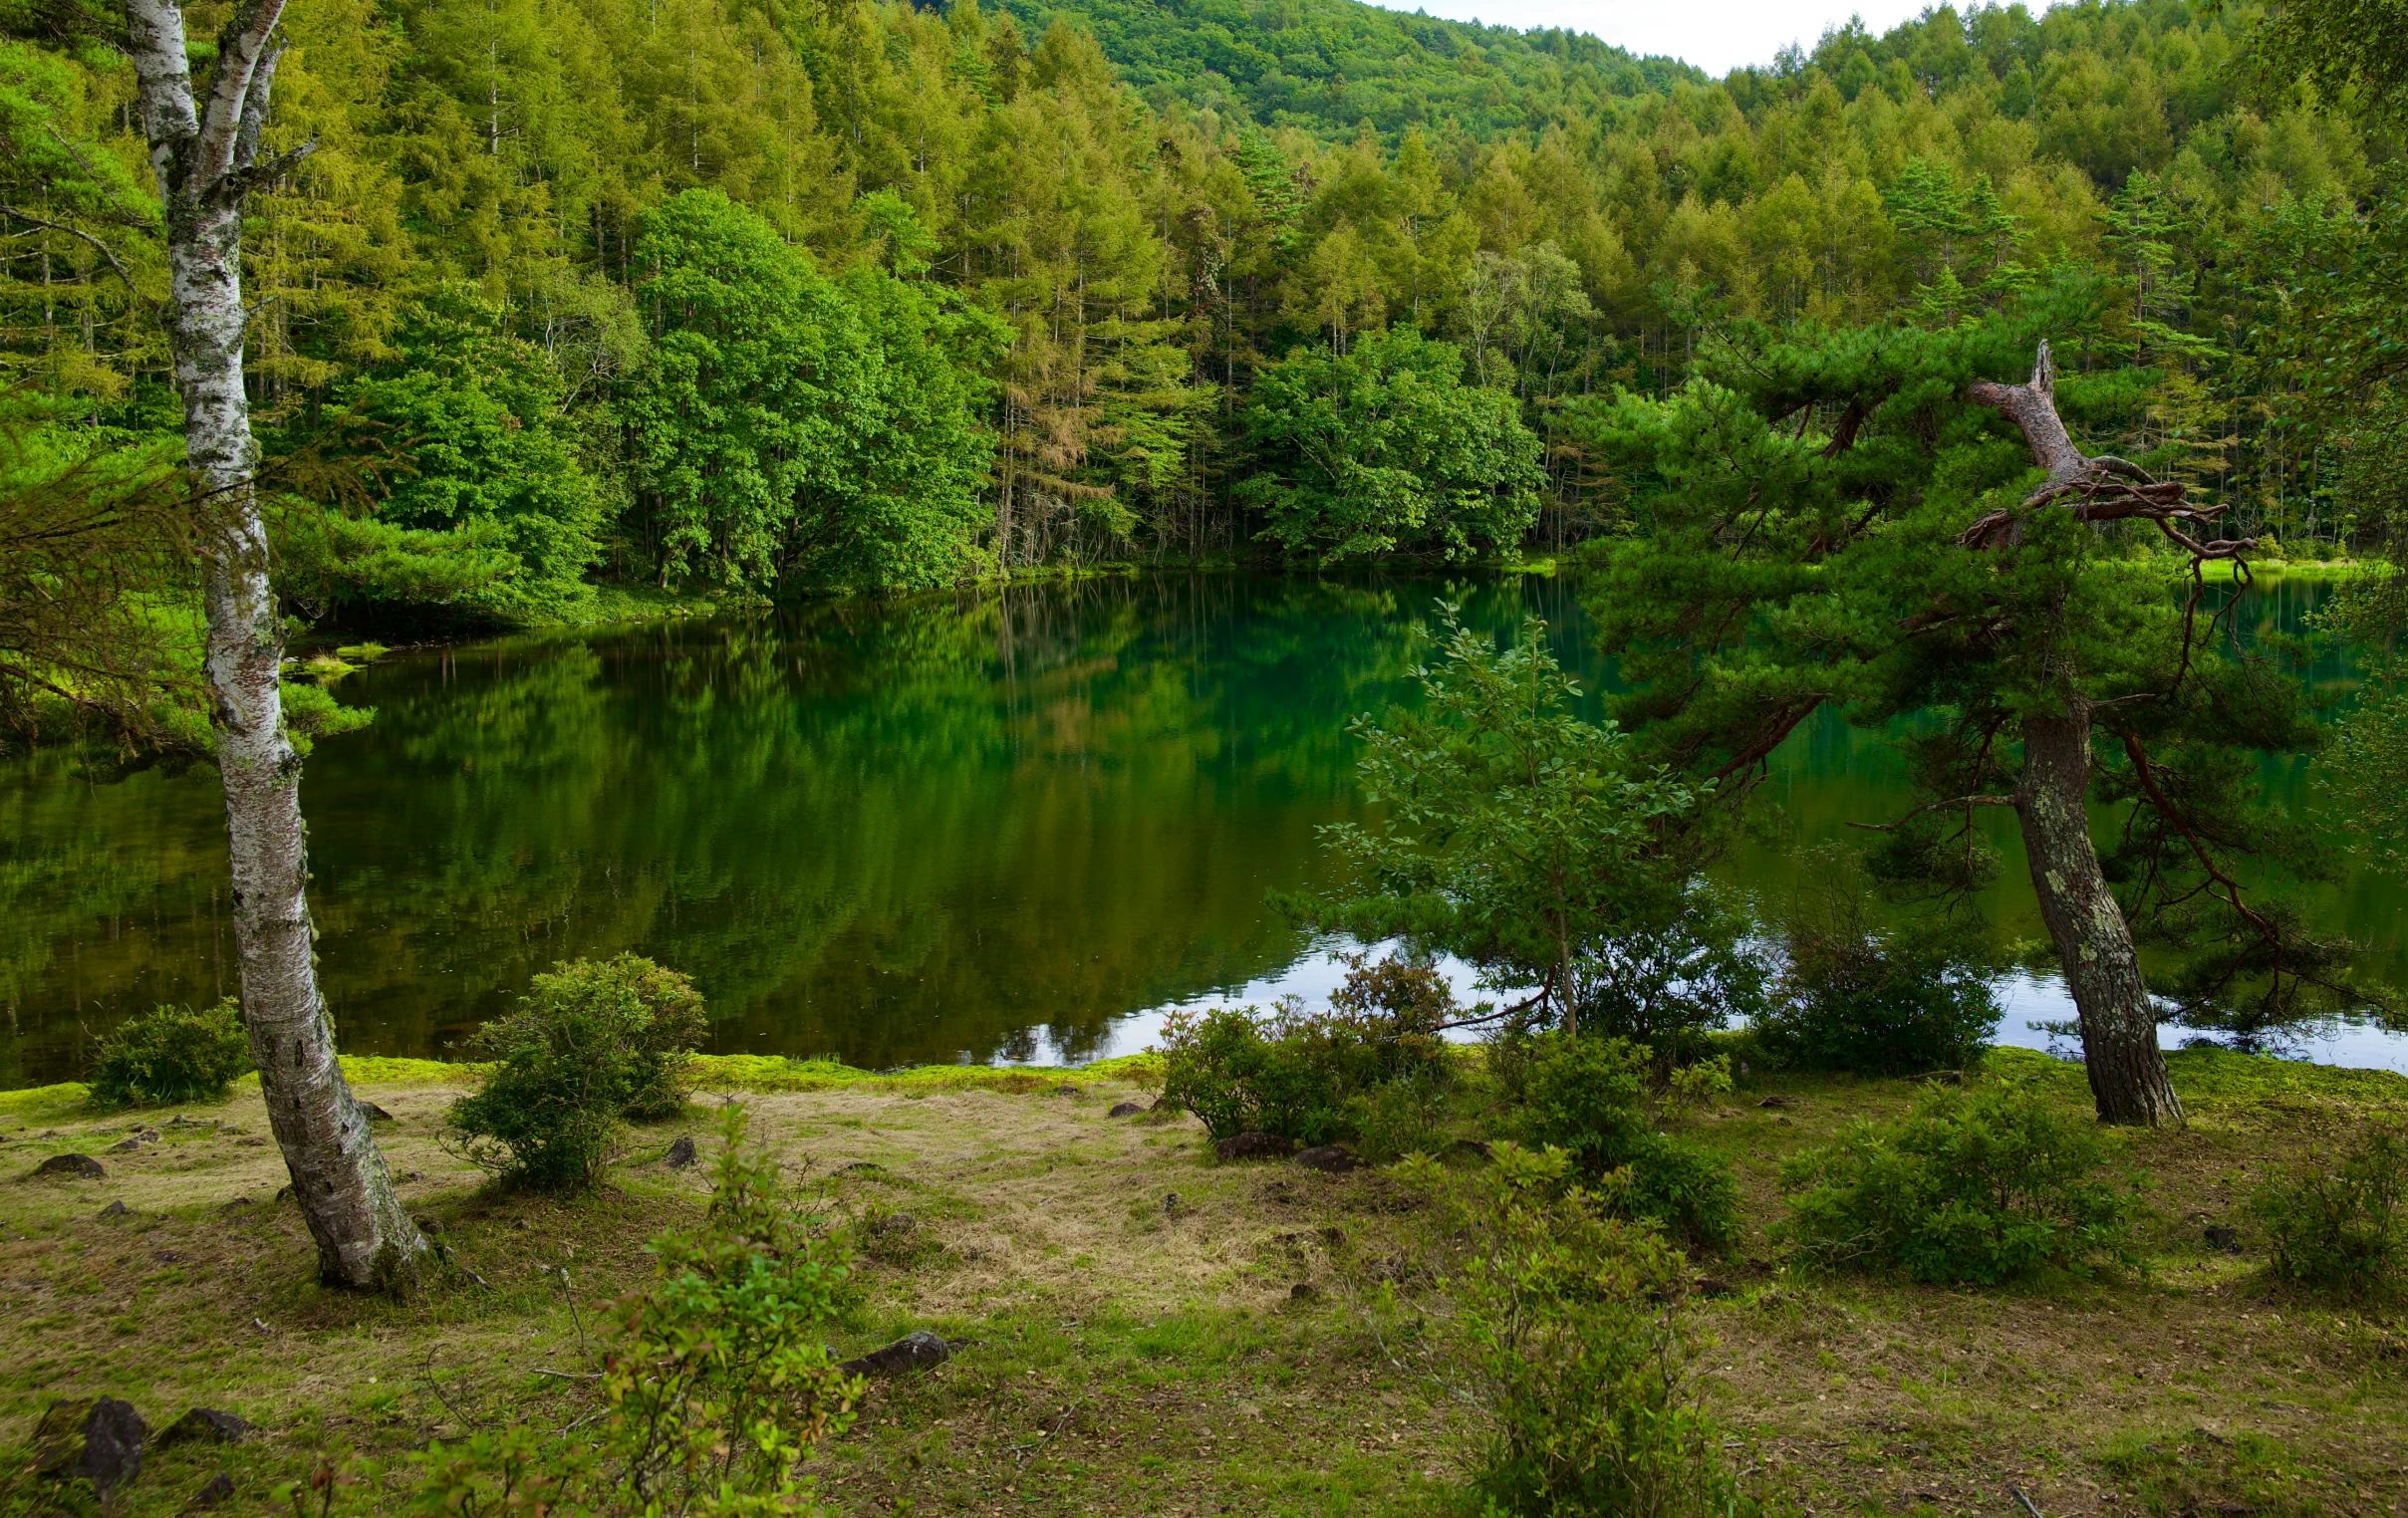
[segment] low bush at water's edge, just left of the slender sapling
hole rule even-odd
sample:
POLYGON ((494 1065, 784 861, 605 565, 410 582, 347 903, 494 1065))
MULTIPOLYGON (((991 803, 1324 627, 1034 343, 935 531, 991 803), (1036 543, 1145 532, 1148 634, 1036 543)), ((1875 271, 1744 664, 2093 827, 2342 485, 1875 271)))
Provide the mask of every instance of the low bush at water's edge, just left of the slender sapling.
MULTIPOLYGON (((1356 1131, 1358 1097, 1397 1083, 1426 1095, 1450 1080, 1440 1027, 1454 1018, 1445 979, 1428 965, 1353 957, 1327 1013, 1283 1001, 1269 1018, 1216 1008, 1163 1025, 1163 1099, 1214 1138, 1276 1133, 1317 1145, 1356 1131)), ((1375 1121, 1389 1121, 1377 1107, 1375 1121)))

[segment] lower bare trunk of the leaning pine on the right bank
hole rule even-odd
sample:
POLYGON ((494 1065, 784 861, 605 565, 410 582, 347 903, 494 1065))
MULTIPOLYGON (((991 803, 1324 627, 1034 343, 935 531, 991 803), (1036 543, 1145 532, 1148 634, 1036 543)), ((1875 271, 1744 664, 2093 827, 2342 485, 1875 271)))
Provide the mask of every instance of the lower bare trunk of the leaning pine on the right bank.
POLYGON ((2090 1097, 2107 1123, 2179 1123, 2182 1099, 2158 1049, 2158 1010, 2141 984, 2131 926, 2090 842, 2090 712, 2023 719, 2015 816, 2032 864, 2040 917, 2056 941, 2066 991, 2083 1022, 2090 1097))

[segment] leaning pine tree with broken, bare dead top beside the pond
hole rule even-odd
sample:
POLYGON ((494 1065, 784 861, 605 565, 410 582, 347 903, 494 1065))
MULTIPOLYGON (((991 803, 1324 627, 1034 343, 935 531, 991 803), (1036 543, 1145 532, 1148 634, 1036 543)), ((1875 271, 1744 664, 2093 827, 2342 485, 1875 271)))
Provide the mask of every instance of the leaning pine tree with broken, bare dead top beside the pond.
POLYGON ((2186 1015, 2350 996, 2345 945, 2235 873, 2237 854, 2314 868, 2256 755, 2316 729, 2203 575, 2232 561, 2247 582, 2254 541, 2068 435, 2040 342, 2088 318, 2066 296, 1946 332, 1741 325, 1671 397, 1599 402, 1584 426, 1628 472, 1633 529, 1592 551, 1589 599, 1633 681, 1618 714, 1724 796, 1825 705, 1912 719, 1922 804, 1861 823, 1893 885, 1977 890, 1996 871, 1977 816, 2013 808, 2100 1119, 2179 1123, 2136 926, 2179 962, 2160 991, 2186 1015))

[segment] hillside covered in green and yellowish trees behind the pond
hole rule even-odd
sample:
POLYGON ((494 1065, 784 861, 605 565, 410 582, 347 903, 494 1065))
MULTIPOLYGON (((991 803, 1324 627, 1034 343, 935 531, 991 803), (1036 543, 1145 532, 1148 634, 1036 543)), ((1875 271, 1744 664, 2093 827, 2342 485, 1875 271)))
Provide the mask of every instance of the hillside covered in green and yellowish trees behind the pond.
MULTIPOLYGON (((0 43, 19 474, 178 433, 87 5, 0 43)), ((1341 0, 303 0, 270 140, 315 152, 243 238, 279 589, 506 625, 597 580, 1556 549, 1630 496, 1601 397, 1702 334, 2035 298, 2090 438, 2348 541, 2314 334, 2391 149, 2239 67, 2254 22, 1941 7, 1712 82, 1341 0)))

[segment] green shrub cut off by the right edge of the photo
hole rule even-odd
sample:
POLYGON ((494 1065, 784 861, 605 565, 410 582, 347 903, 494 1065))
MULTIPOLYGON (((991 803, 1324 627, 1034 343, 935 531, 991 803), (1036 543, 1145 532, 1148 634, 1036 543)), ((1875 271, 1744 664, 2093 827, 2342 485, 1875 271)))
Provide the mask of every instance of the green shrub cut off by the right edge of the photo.
POLYGON ((2249 1212, 2266 1229, 2283 1280, 2365 1297, 2398 1285, 2408 1265, 2408 1135, 2377 1128, 2338 1160, 2312 1155, 2266 1181, 2249 1212))

